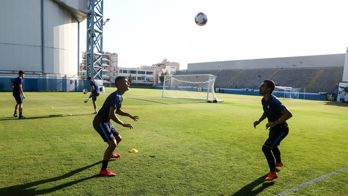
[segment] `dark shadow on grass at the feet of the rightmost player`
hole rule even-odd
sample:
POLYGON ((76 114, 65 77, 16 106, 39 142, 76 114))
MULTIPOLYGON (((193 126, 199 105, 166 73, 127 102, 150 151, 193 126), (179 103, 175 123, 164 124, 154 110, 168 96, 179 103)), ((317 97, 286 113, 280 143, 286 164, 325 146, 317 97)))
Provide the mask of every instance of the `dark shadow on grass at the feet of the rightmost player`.
MULTIPOLYGON (((276 171, 278 172, 279 170, 276 169, 276 171)), ((275 184, 275 182, 270 181, 270 182, 265 182, 265 178, 268 176, 268 173, 264 176, 261 176, 260 178, 254 180, 253 182, 251 182, 250 184, 245 185, 243 188, 241 188, 240 190, 238 190, 236 193, 234 193, 231 196, 239 196, 239 195, 258 195, 259 193, 261 193, 264 189, 272 186, 273 184, 275 184), (259 186, 260 184, 262 184, 261 187, 259 187, 258 189, 254 189, 255 187, 259 186), (254 190, 253 190, 254 189, 254 190)))

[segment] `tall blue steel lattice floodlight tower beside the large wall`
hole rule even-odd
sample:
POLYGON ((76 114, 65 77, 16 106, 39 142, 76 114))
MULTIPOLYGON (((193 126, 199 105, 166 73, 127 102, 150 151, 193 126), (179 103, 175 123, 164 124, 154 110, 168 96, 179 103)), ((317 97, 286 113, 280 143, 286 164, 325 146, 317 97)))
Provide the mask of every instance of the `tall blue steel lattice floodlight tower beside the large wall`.
POLYGON ((103 80, 103 0, 89 0, 86 41, 87 77, 103 80))

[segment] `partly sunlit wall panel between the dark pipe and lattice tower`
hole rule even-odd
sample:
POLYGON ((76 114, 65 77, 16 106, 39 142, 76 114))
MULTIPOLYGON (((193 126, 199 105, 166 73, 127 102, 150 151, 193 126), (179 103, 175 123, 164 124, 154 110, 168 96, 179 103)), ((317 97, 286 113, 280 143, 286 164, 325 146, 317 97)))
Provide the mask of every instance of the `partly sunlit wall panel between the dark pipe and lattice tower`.
POLYGON ((44 73, 77 75, 78 21, 52 0, 44 0, 44 35, 44 73))

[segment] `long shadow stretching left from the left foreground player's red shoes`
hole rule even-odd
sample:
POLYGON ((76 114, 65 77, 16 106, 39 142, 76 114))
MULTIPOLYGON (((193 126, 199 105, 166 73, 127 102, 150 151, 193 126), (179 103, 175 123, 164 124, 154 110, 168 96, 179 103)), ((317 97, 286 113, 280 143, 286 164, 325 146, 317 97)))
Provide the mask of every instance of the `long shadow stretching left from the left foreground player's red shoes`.
POLYGON ((38 181, 35 181, 35 182, 29 182, 29 183, 26 183, 26 184, 19 184, 19 185, 14 185, 14 186, 10 186, 10 187, 0 188, 0 195, 43 195, 43 194, 49 194, 49 193, 52 193, 52 192, 54 192, 56 190, 60 190, 60 189, 65 188, 65 187, 72 186, 74 184, 77 184, 77 183, 85 181, 85 180, 89 180, 89 179, 93 179, 93 178, 99 178, 99 177, 104 177, 102 175, 96 174, 96 175, 89 176, 89 177, 86 177, 86 178, 82 178, 82 179, 74 180, 74 181, 71 181, 71 182, 67 182, 65 184, 60 184, 60 185, 57 185, 55 187, 48 188, 48 189, 36 190, 37 188, 31 188, 31 187, 35 187, 35 186, 38 186, 40 184, 44 184, 44 183, 47 183, 47 182, 54 182, 54 181, 62 180, 62 179, 65 179, 65 178, 69 178, 70 176, 72 176, 74 174, 77 174, 79 172, 84 171, 85 169, 88 169, 90 167, 93 167, 95 165, 102 164, 102 163, 103 163, 103 161, 98 161, 97 163, 94 163, 92 165, 88 165, 86 167, 82 167, 82 168, 76 169, 76 170, 71 171, 69 173, 66 173, 64 175, 57 176, 57 177, 50 178, 50 179, 46 179, 46 180, 38 180, 38 181))

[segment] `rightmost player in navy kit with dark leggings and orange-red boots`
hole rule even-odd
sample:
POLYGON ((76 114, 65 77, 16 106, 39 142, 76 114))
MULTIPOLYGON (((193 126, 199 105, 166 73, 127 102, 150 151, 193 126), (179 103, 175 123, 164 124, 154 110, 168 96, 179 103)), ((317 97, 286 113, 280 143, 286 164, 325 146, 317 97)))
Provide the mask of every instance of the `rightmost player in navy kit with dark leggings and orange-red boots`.
POLYGON ((266 181, 277 179, 276 167, 282 167, 284 165, 280 159, 278 145, 289 133, 286 120, 292 117, 288 108, 280 103, 276 96, 272 95, 274 88, 275 84, 271 80, 265 80, 260 85, 259 93, 263 96, 261 100, 263 114, 259 120, 254 122, 254 128, 256 128, 256 125, 259 125, 261 121, 266 118, 268 119, 268 123, 266 124, 266 129, 269 129, 268 139, 262 146, 262 151, 266 156, 271 170, 265 179, 266 181), (275 161, 274 158, 276 159, 275 161))

